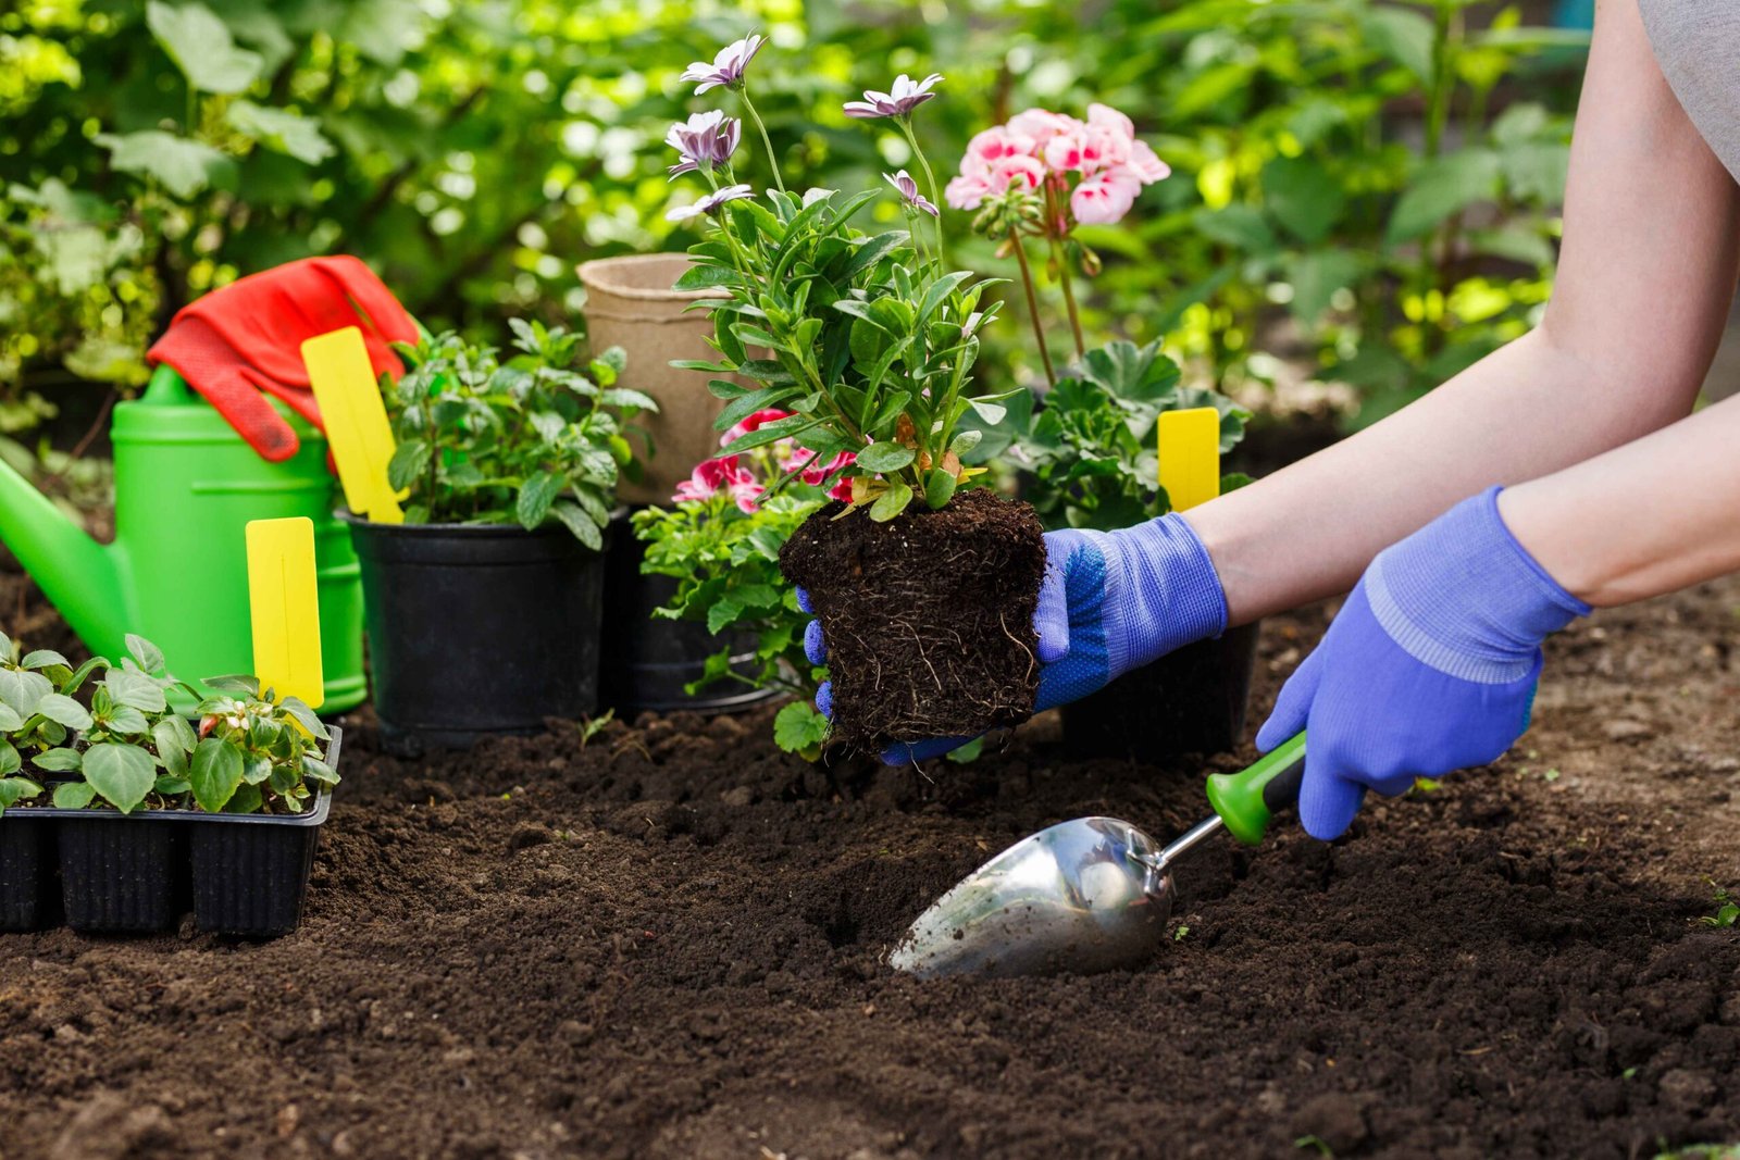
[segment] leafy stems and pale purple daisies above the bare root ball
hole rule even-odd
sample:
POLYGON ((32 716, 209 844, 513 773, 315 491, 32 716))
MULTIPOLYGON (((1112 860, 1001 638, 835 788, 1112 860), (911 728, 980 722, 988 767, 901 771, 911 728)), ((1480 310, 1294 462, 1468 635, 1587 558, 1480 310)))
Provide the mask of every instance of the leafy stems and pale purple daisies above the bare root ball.
MULTIPOLYGON (((731 45, 727 52, 741 54, 731 78, 703 83, 698 92, 724 83, 753 120, 743 70, 757 49, 750 40, 731 45)), ((691 73, 706 68, 701 63, 691 73)), ((675 125, 668 137, 679 148, 673 176, 699 172, 712 188, 673 212, 706 221, 706 240, 689 247, 694 266, 677 287, 720 296, 708 304, 720 360, 677 365, 755 383, 720 377, 708 384, 726 400, 720 431, 767 407, 793 412, 726 445, 731 454, 799 440, 809 461, 793 464, 773 490, 813 463, 851 454, 854 459, 835 473, 851 480, 847 510, 868 506, 877 522, 893 520, 914 499, 927 508, 947 504, 962 482, 981 473, 960 459, 978 443, 980 424, 1004 414, 994 397, 976 397, 969 379, 980 330, 999 303, 981 303, 988 282, 945 268, 936 183, 912 127, 912 111, 934 96, 929 89, 940 80, 901 75, 893 94, 867 92, 865 101, 844 106, 847 117, 887 120, 898 129, 929 184, 927 198, 905 170, 884 174, 907 230, 875 237, 847 223, 882 197, 882 188, 851 197, 811 190, 797 198, 785 191, 774 165, 778 188, 762 205, 736 181, 738 122, 703 113, 675 125), (919 230, 926 217, 929 224, 919 230), (764 351, 773 358, 760 357, 764 351)))

